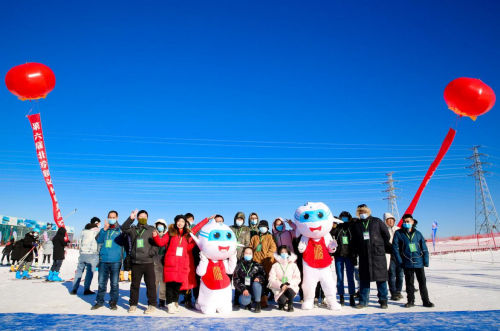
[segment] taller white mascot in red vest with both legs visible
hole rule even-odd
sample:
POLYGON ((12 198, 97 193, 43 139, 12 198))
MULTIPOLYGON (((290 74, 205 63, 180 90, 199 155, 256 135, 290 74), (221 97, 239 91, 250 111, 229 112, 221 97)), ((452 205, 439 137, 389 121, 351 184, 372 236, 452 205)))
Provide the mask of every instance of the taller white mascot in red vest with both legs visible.
POLYGON ((328 308, 342 309, 337 302, 336 284, 330 270, 332 257, 329 253, 334 253, 337 248, 337 242, 330 235, 334 222, 342 223, 334 218, 328 206, 321 202, 308 202, 295 211, 297 232, 302 235, 298 246, 304 265, 302 309, 314 308, 314 293, 318 282, 321 282, 328 308))

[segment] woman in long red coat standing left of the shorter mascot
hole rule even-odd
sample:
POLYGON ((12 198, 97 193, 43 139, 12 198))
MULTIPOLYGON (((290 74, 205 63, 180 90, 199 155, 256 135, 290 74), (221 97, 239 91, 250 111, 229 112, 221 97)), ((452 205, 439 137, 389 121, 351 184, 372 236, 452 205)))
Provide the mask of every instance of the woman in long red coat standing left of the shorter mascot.
POLYGON ((153 240, 159 247, 166 247, 163 281, 166 283, 167 309, 169 314, 179 311, 179 292, 196 286, 194 260, 190 258, 195 241, 189 235, 197 233, 214 216, 189 229, 184 215, 175 216, 174 223, 168 227, 168 233, 161 238, 157 231, 153 232, 153 240))

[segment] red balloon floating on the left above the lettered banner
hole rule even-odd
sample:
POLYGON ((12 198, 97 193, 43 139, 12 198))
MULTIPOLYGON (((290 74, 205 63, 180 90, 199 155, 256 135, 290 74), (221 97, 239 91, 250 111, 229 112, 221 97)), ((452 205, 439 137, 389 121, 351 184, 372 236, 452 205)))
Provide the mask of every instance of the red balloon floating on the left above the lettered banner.
POLYGON ((20 100, 45 98, 56 86, 54 72, 41 63, 26 63, 13 67, 5 75, 5 85, 20 100))

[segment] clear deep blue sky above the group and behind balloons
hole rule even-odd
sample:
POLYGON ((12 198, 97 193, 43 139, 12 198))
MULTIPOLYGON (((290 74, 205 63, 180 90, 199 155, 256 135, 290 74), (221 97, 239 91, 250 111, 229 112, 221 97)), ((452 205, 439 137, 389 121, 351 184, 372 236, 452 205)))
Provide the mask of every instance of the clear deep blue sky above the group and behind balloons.
MULTIPOLYGON (((88 1, 0 5, 0 72, 50 66, 39 102, 67 224, 116 209, 171 222, 256 211, 292 218, 306 201, 382 216, 385 173, 402 214, 455 116, 457 77, 500 91, 497 1, 88 1)), ((0 92, 0 214, 51 220, 31 108, 0 92)), ((415 212, 425 235, 474 232, 464 158, 500 170, 498 106, 462 119, 415 212), (496 165, 495 165, 496 164, 496 165)), ((488 178, 500 204, 498 175, 488 178)))

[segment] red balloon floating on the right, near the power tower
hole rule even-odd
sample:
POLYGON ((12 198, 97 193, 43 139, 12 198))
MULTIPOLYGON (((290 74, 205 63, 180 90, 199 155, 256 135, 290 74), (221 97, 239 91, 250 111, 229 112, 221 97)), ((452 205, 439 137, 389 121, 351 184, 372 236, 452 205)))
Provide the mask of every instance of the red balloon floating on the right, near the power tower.
POLYGON ((489 112, 495 100, 495 92, 491 87, 476 78, 457 78, 444 89, 444 101, 448 108, 473 120, 489 112))

